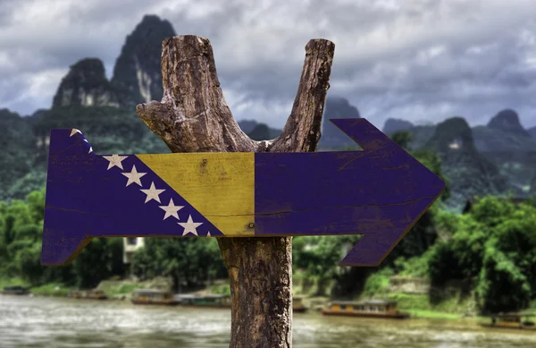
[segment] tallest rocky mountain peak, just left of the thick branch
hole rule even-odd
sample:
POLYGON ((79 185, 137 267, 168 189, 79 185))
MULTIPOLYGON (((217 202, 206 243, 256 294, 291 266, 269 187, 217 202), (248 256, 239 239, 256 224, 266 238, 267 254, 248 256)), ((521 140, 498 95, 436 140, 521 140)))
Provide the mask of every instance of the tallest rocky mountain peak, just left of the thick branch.
POLYGON ((126 38, 112 78, 121 106, 135 107, 162 99, 162 41, 175 35, 169 21, 146 14, 126 38))

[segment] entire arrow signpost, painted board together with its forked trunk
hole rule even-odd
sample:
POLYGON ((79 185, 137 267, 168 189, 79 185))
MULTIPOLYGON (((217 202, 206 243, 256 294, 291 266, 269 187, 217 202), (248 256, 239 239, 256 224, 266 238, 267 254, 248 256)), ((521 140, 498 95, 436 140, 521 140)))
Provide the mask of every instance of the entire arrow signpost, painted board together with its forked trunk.
POLYGON ((230 347, 291 347, 291 236, 364 234, 341 264, 377 266, 445 188, 364 119, 331 120, 363 151, 314 152, 333 52, 309 41, 281 136, 255 141, 225 103, 208 39, 165 39, 162 102, 136 111, 174 153, 101 156, 82 132, 53 130, 42 263, 71 262, 93 237, 219 237, 230 347))

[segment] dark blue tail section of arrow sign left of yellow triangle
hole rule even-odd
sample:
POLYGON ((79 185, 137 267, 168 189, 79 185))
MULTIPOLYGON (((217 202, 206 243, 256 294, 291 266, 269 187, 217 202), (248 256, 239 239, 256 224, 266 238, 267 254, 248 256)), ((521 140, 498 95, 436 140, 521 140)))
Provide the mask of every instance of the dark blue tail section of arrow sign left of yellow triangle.
POLYGON ((70 133, 50 136, 42 264, 70 262, 91 237, 223 235, 136 155, 88 153, 84 136, 70 133), (133 172, 143 176, 125 175, 133 172))

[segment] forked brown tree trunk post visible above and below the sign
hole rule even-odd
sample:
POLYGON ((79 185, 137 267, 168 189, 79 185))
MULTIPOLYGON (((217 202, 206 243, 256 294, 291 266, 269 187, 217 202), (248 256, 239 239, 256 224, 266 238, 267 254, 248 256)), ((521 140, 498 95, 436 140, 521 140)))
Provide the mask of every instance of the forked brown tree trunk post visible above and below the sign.
MULTIPOLYGON (((297 96, 281 136, 251 140, 223 98, 208 39, 163 40, 163 98, 136 106, 172 152, 306 152, 320 140, 335 45, 312 39, 297 96)), ((229 272, 230 348, 292 346, 291 237, 218 238, 229 272)))

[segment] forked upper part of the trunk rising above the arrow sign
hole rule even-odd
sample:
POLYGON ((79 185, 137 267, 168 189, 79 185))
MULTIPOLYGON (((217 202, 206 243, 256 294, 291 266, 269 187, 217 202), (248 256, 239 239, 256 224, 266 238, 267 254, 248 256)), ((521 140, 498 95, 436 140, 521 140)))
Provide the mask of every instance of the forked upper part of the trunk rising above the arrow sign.
POLYGON ((239 128, 223 97, 214 52, 207 38, 180 36, 162 44, 163 98, 136 106, 139 118, 172 152, 314 151, 330 87, 335 45, 312 39, 294 106, 281 136, 251 140, 239 128))

